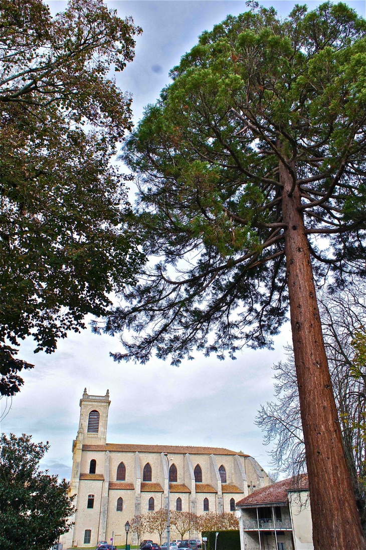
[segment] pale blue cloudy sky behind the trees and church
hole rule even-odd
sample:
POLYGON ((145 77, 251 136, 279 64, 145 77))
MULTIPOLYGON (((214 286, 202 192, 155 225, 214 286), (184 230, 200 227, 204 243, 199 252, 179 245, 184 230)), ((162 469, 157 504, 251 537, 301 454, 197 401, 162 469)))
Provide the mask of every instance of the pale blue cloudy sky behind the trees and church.
MULTIPOLYGON (((261 2, 273 5, 285 17, 296 2, 261 2)), ((302 3, 302 2, 299 2, 302 3)), ((360 15, 365 1, 347 2, 360 15)), ((48 2, 52 14, 66 3, 48 2)), ((134 122, 144 106, 159 97, 170 82, 169 70, 192 48, 204 30, 226 15, 245 11, 245 2, 220 0, 136 0, 107 2, 121 17, 132 15, 143 28, 136 38, 133 63, 117 74, 117 84, 133 94, 134 122)), ((312 9, 319 2, 307 2, 312 9)), ((289 323, 274 339, 273 350, 245 348, 237 360, 219 361, 215 355, 195 353, 180 367, 155 358, 147 365, 117 364, 110 351, 121 350, 117 338, 91 334, 90 327, 71 333, 56 353, 34 355, 32 340, 25 340, 19 357, 35 364, 25 371, 24 387, 12 400, 2 399, 7 414, 0 431, 32 434, 34 441, 50 442, 42 468, 70 477, 72 442, 79 423, 79 399, 88 393, 110 390, 109 443, 207 445, 248 453, 270 469, 268 447, 255 426, 256 411, 273 399, 271 367, 285 359, 283 346, 291 343, 289 323), (9 408, 10 407, 10 408, 9 408)))

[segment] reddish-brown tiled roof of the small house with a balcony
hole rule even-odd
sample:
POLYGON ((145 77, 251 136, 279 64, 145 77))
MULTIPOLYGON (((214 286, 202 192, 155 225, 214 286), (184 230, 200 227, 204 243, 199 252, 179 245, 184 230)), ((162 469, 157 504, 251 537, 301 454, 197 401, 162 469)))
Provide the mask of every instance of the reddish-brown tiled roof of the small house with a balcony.
POLYGON ((288 491, 306 491, 309 488, 308 476, 289 477, 287 480, 277 481, 267 487, 256 489, 254 493, 242 498, 236 503, 241 508, 255 508, 256 506, 268 506, 270 504, 286 505, 288 491))

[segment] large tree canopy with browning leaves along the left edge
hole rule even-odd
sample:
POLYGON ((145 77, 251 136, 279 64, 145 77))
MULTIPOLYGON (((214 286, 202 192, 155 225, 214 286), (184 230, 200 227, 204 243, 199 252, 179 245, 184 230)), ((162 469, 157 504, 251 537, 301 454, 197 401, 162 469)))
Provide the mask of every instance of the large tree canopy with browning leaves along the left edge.
POLYGON ((131 129, 131 97, 110 69, 134 57, 131 18, 102 0, 0 0, 0 392, 32 365, 14 355, 32 335, 51 353, 133 281, 139 252, 122 174, 110 166, 131 129))

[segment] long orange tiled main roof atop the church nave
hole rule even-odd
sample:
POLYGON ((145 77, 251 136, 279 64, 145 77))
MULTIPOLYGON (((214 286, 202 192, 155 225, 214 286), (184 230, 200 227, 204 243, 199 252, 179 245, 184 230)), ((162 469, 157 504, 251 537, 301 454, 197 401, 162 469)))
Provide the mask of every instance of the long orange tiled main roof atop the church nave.
POLYGON ((184 445, 133 445, 130 443, 107 443, 106 445, 83 445, 83 450, 104 451, 117 453, 170 453, 170 454, 221 454, 249 456, 244 453, 237 453, 234 450, 221 447, 185 447, 184 445))

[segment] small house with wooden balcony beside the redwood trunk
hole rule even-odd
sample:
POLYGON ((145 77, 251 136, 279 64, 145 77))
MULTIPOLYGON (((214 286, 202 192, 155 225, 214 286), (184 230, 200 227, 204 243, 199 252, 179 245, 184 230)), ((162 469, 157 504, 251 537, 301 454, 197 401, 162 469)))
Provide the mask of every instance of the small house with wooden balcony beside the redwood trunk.
POLYGON ((241 550, 313 550, 307 476, 260 488, 236 508, 241 550))

